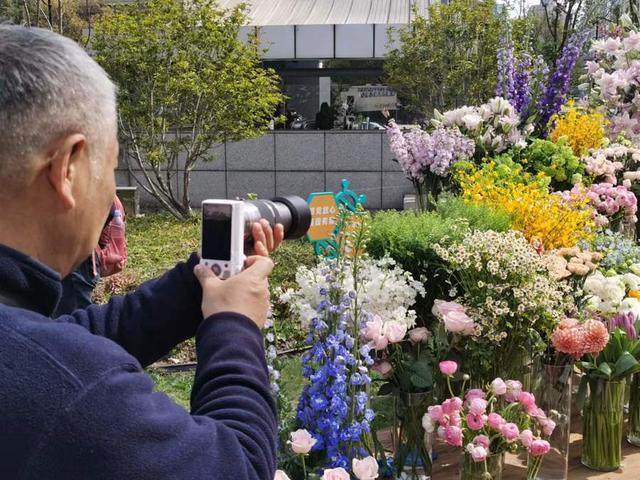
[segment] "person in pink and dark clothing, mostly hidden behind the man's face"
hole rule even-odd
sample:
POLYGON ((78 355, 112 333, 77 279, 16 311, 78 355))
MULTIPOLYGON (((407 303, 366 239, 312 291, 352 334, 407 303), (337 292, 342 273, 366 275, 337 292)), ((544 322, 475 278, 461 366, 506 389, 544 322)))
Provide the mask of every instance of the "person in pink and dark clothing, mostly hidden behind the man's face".
POLYGON ((100 278, 124 270, 127 263, 125 220, 124 207, 116 195, 98 246, 75 271, 62 279, 62 298, 53 317, 88 307, 93 303, 93 291, 100 278))

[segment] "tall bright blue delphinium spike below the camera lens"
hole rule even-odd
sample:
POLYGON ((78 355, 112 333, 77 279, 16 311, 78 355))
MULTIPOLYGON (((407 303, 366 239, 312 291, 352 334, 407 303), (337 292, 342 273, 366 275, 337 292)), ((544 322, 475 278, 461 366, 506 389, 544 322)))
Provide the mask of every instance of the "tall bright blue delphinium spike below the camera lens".
POLYGON ((311 349, 303 357, 304 387, 297 418, 301 428, 317 440, 314 451, 323 451, 328 467, 349 469, 351 459, 367 456, 359 445, 374 418, 368 408, 367 386, 371 383, 368 365, 373 363, 368 348, 357 349, 348 324, 352 297, 321 289, 323 300, 318 317, 311 322, 307 343, 311 349), (354 351, 355 350, 355 351, 354 351))

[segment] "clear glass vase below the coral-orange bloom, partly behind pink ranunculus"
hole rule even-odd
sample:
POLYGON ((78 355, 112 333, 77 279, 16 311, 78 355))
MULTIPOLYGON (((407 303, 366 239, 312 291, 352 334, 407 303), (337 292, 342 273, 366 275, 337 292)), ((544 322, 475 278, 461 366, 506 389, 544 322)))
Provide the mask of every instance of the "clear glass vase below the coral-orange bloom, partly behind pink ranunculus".
POLYGON ((534 364, 533 393, 537 405, 556 422, 549 437, 549 453, 529 457, 528 480, 566 480, 569 473, 569 436, 571 433, 571 380, 573 363, 551 365, 537 360, 534 364))

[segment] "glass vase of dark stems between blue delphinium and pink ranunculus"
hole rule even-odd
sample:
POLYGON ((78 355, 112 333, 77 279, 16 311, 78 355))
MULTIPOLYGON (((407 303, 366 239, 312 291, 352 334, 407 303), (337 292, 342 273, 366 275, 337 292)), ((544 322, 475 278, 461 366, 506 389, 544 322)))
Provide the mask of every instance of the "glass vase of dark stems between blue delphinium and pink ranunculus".
POLYGON ((394 465, 398 477, 431 478, 431 435, 422 428, 422 417, 433 404, 432 392, 400 393, 394 398, 394 465))

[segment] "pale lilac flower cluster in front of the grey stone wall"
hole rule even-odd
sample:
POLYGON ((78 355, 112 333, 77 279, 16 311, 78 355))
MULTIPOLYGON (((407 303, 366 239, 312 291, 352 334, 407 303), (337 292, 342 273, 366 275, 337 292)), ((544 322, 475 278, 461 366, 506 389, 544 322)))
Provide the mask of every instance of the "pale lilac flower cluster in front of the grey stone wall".
POLYGON ((391 151, 410 179, 420 179, 431 173, 446 177, 451 166, 475 153, 475 143, 459 130, 439 127, 431 134, 413 129, 402 133, 391 120, 387 127, 391 151))

